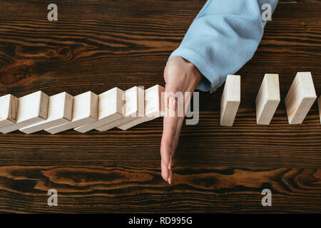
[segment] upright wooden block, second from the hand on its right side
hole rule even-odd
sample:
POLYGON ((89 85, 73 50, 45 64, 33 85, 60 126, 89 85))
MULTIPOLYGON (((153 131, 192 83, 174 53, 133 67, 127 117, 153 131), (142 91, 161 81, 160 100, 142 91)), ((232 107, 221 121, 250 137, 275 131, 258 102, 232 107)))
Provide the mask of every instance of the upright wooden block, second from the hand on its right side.
POLYGON ((256 123, 269 125, 280 103, 278 74, 265 74, 255 103, 256 123))

